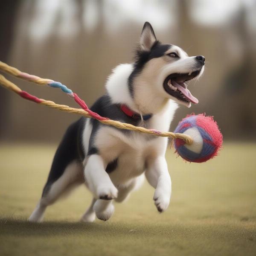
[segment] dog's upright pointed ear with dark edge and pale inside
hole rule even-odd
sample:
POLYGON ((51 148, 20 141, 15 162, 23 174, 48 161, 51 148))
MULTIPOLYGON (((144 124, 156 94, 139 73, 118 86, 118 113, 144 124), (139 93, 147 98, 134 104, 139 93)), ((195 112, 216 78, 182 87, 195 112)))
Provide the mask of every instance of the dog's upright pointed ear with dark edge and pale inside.
POLYGON ((144 51, 150 51, 151 47, 157 41, 154 34, 154 30, 149 22, 145 22, 141 35, 140 35, 140 47, 144 51))

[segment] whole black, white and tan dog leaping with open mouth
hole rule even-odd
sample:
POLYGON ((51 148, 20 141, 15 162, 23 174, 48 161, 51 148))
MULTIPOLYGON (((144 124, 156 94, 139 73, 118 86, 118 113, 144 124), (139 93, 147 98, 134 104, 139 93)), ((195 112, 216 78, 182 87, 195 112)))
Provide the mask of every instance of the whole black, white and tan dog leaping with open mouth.
MULTIPOLYGON (((189 57, 180 47, 157 41, 150 23, 140 36, 136 59, 117 66, 106 83, 107 94, 91 107, 113 120, 169 131, 177 103, 198 103, 187 89, 204 72, 204 56, 189 57)), ((70 125, 53 159, 42 197, 30 221, 42 221, 46 207, 84 183, 93 194, 81 221, 108 220, 113 200, 122 202, 142 184, 155 188, 159 212, 169 205, 171 179, 165 152, 168 139, 119 130, 96 119, 81 118, 70 125)))

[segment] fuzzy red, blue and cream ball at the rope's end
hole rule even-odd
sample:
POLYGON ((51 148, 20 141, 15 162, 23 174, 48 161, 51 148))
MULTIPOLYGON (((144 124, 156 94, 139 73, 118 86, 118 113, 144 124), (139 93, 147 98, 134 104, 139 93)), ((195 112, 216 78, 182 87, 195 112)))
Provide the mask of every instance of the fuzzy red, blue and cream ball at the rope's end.
POLYGON ((192 145, 187 145, 179 138, 174 140, 177 153, 186 161, 202 163, 215 157, 222 146, 223 137, 212 116, 194 113, 183 118, 175 133, 192 137, 192 145))

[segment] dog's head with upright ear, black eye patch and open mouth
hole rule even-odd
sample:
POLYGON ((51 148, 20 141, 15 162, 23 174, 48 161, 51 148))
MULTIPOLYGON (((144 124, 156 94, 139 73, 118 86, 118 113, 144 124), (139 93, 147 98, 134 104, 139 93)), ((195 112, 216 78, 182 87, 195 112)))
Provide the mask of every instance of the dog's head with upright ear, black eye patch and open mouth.
POLYGON ((204 56, 189 57, 180 47, 157 41, 150 23, 146 22, 140 36, 134 70, 129 78, 130 93, 133 84, 147 84, 156 95, 191 106, 196 99, 187 89, 192 79, 204 72, 204 56))

